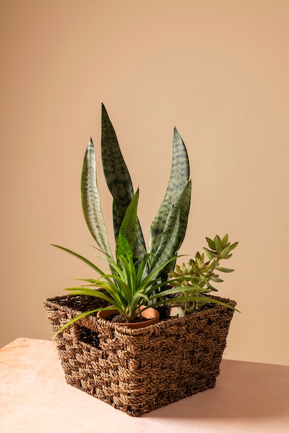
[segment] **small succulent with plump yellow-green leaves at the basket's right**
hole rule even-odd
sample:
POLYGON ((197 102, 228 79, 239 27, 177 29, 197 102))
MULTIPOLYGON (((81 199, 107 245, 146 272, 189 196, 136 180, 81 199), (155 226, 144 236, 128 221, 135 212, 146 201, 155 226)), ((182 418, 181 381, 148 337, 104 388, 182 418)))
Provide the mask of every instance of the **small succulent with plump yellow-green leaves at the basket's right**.
MULTIPOLYGON (((208 261, 205 261, 204 253, 197 252, 194 259, 184 261, 180 266, 176 265, 174 271, 169 273, 174 281, 171 284, 178 288, 178 297, 174 299, 172 304, 178 306, 181 317, 198 311, 207 304, 206 295, 212 291, 217 291, 212 283, 223 282, 223 279, 219 278, 215 270, 223 273, 231 273, 234 270, 223 268, 219 264, 221 260, 232 257, 232 250, 236 248, 238 242, 231 244, 227 234, 223 239, 217 234, 214 240, 209 237, 206 237, 206 240, 209 248, 204 248, 204 250, 208 261)), ((212 302, 211 298, 209 302, 212 302)), ((213 302, 223 304, 216 300, 213 302)))

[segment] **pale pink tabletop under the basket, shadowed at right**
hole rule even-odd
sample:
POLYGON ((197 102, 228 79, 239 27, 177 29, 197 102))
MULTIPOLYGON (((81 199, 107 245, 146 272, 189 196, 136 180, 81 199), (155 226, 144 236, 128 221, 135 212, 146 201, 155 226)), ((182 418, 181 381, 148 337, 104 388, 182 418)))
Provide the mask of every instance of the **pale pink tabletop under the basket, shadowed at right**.
POLYGON ((140 418, 66 385, 55 342, 0 349, 0 432, 289 432, 289 367, 223 360, 216 387, 140 418))

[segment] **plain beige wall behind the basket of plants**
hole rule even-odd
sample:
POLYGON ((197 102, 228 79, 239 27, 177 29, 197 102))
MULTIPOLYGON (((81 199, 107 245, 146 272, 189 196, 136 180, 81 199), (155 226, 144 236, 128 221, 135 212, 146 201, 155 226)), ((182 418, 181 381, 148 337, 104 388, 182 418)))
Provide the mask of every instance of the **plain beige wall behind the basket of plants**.
POLYGON ((90 256, 82 158, 106 105, 149 224, 165 194, 174 125, 192 168, 180 252, 239 240, 219 293, 238 302, 225 358, 289 364, 286 0, 1 2, 1 338, 51 337, 42 301, 90 256))

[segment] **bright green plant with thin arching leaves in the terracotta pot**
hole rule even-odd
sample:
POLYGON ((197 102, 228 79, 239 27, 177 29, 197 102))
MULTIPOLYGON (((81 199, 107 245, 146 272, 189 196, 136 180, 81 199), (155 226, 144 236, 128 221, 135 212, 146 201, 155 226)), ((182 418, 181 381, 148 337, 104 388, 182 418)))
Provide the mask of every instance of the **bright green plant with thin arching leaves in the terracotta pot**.
MULTIPOLYGON (((120 312, 127 322, 133 321, 133 319, 138 315, 139 306, 147 305, 151 297, 155 299, 152 294, 158 291, 160 286, 166 286, 168 284, 167 281, 160 282, 160 279, 158 279, 157 276, 158 273, 162 271, 162 268, 167 266, 169 261, 176 259, 176 257, 171 257, 168 261, 163 262, 160 266, 153 268, 153 270, 147 273, 147 266, 150 265, 150 262, 153 260, 153 255, 151 253, 146 253, 138 264, 138 267, 135 266, 130 243, 134 243, 133 238, 136 237, 138 195, 137 191, 124 214, 122 225, 120 226, 118 237, 116 239, 116 260, 107 254, 102 257, 102 259, 109 264, 111 270, 110 273, 104 273, 103 270, 95 266, 91 261, 88 261, 85 257, 77 255, 77 253, 72 250, 54 245, 55 247, 77 257, 77 259, 84 261, 84 263, 93 268, 93 270, 100 275, 100 278, 98 279, 81 279, 80 281, 86 283, 84 286, 70 287, 66 288, 66 290, 72 295, 94 296, 109 302, 109 304, 112 304, 113 307, 120 312), (128 233, 129 237, 127 236, 128 233), (103 288, 104 293, 95 290, 95 288, 103 288)), ((64 326, 57 331, 55 336, 59 332, 62 332, 67 326, 76 320, 80 320, 80 318, 85 315, 106 309, 111 309, 111 307, 97 308, 93 311, 82 313, 73 318, 73 320, 64 324, 64 326)))

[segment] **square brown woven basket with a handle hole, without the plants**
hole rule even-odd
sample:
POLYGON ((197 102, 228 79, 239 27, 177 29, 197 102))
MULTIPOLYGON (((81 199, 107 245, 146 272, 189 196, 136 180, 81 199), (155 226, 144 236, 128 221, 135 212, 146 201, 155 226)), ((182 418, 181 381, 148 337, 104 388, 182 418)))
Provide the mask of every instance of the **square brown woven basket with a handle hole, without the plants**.
MULTIPOLYGON (((53 332, 83 311, 107 306, 80 295, 53 297, 44 305, 53 332)), ((142 329, 84 317, 55 339, 66 382, 130 416, 213 388, 233 313, 210 304, 142 329)))

